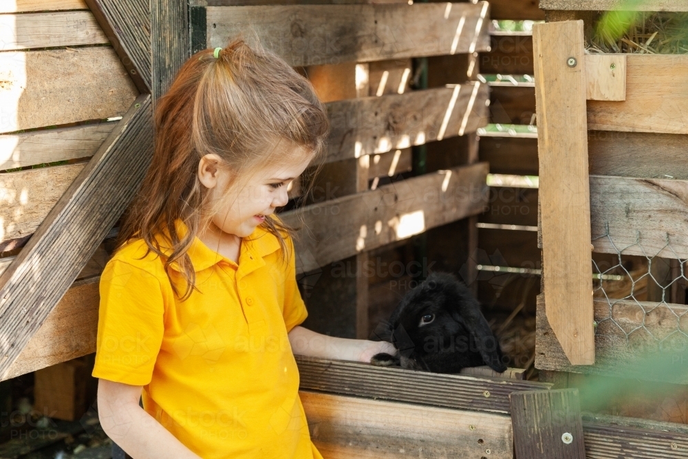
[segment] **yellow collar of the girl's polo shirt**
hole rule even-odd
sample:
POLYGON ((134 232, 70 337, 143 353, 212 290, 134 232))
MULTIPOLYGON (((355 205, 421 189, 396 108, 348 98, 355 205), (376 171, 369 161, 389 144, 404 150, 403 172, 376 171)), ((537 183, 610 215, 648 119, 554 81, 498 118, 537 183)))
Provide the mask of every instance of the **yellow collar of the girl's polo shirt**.
MULTIPOLYGON (((177 233, 180 237, 186 235, 186 224, 181 220, 175 222, 177 228, 177 233)), ((162 238, 164 239, 164 238, 162 238)), ((270 255, 270 253, 275 252, 279 249, 279 241, 275 235, 272 235, 269 231, 261 226, 257 226, 253 233, 249 237, 244 237, 241 242, 241 251, 239 253, 239 273, 241 275, 246 275, 251 271, 265 266, 265 261, 263 257, 270 255)), ((160 246, 160 250, 166 256, 171 255, 171 248, 166 248, 160 246)), ((191 264, 193 264, 193 270, 198 273, 204 269, 210 268, 211 266, 219 263, 219 261, 227 261, 230 264, 234 264, 230 259, 223 257, 219 253, 215 252, 211 248, 208 248, 201 239, 198 237, 193 238, 191 247, 189 247, 189 258, 191 258, 191 264)), ((172 263, 171 268, 176 271, 180 271, 178 264, 172 263)))

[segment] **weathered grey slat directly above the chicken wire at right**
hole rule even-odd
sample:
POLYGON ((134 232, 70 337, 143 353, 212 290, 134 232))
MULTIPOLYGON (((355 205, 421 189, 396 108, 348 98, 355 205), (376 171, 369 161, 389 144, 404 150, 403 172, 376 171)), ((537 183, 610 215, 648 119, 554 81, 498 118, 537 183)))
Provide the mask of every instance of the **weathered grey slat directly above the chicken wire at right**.
POLYGON ((688 181, 590 175, 590 225, 596 252, 623 250, 624 255, 686 259, 687 213, 688 181), (608 231, 611 241, 600 237, 608 231))

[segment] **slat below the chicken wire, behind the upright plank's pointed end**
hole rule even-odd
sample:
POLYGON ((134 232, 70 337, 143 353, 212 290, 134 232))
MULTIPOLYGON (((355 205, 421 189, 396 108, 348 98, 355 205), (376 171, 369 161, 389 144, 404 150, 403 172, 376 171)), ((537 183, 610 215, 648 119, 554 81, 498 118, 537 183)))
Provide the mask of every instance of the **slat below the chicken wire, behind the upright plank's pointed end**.
POLYGON ((535 367, 645 381, 688 383, 685 369, 687 312, 688 306, 685 305, 658 305, 647 301, 636 303, 620 300, 610 307, 606 299, 595 298, 594 320, 598 323, 595 364, 570 365, 544 314, 544 295, 539 295, 535 367), (659 341, 663 341, 661 348, 659 341))

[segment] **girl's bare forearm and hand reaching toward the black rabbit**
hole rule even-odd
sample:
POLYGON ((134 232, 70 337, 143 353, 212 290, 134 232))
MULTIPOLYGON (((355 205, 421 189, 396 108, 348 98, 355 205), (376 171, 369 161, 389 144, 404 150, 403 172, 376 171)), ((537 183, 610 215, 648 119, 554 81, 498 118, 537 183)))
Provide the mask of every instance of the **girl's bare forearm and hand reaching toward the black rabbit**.
POLYGON ((397 353, 394 345, 386 341, 328 337, 301 326, 296 326, 289 332, 289 343, 294 354, 321 359, 369 362, 379 352, 392 355, 397 353))

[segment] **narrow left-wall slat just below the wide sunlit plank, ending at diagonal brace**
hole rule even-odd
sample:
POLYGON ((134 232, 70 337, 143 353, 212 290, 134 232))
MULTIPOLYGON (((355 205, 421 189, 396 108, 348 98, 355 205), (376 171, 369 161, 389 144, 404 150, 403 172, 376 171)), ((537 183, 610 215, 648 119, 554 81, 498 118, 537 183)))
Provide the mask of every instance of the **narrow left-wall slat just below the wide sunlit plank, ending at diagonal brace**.
MULTIPOLYGON (((117 122, 0 136, 0 171, 94 156, 117 122)), ((1 182, 2 180, 0 180, 1 182)))

